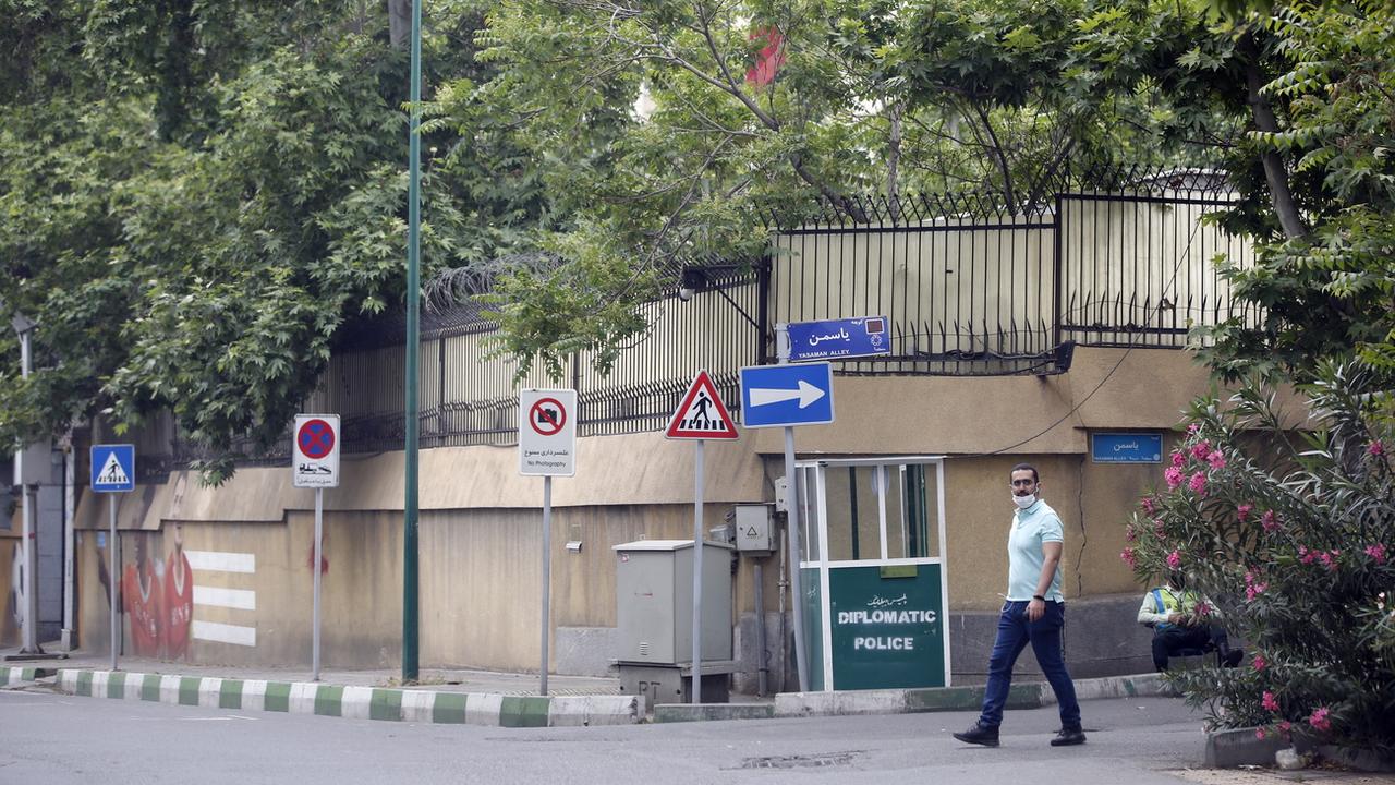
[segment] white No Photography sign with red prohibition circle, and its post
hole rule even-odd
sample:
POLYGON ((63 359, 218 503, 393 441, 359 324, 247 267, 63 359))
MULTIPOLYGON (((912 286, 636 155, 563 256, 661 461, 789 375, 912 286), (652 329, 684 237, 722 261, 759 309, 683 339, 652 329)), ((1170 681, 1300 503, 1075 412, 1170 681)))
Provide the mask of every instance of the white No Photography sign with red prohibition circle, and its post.
POLYGON ((543 478, 543 663, 538 691, 547 694, 547 650, 552 627, 552 478, 576 476, 576 390, 519 391, 519 474, 543 478))

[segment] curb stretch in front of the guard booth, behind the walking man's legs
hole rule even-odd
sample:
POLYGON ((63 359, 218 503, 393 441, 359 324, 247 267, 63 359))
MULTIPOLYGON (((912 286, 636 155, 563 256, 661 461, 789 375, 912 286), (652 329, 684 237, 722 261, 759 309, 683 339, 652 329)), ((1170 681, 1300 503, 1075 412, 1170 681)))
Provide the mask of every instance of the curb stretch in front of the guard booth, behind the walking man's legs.
MULTIPOLYGON (((976 711, 983 705, 983 686, 925 687, 914 690, 850 690, 843 693, 781 693, 776 717, 841 717, 858 714, 918 714, 926 711, 976 711)), ((1076 682, 1080 700, 1172 697, 1176 693, 1156 673, 1108 676, 1076 682)), ((1045 682, 1013 684, 1004 708, 1055 705, 1056 694, 1045 682)), ((656 708, 657 722, 657 708, 656 708)))

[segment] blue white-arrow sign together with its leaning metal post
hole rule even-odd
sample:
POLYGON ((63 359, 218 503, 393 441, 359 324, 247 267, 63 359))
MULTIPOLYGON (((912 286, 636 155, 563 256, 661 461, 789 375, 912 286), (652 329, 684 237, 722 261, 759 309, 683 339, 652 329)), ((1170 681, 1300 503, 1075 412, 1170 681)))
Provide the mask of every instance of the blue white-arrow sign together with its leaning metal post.
POLYGON ((790 536, 790 591, 794 608, 794 655, 799 691, 809 691, 809 654, 804 638, 804 591, 799 580, 799 496, 794 471, 794 429, 833 422, 833 366, 829 363, 741 369, 741 422, 746 427, 783 427, 785 513, 790 536))

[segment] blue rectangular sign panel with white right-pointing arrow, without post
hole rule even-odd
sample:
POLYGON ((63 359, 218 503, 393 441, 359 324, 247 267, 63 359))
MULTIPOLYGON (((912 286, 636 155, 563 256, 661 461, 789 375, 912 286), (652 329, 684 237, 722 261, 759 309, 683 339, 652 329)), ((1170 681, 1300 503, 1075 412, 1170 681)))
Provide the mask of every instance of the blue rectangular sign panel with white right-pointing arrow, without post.
POLYGON ((741 423, 746 427, 830 422, 831 365, 762 365, 741 369, 741 423))

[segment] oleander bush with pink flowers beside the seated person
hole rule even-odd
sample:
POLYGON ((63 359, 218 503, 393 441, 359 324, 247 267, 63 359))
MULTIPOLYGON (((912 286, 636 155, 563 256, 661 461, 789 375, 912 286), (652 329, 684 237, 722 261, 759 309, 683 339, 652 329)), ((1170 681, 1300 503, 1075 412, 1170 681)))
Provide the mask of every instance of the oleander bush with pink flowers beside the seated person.
POLYGON ((1120 557, 1145 582, 1184 570, 1250 650, 1169 675, 1212 725, 1395 753, 1395 398, 1342 366, 1302 391, 1306 432, 1258 386, 1196 401, 1120 557))

